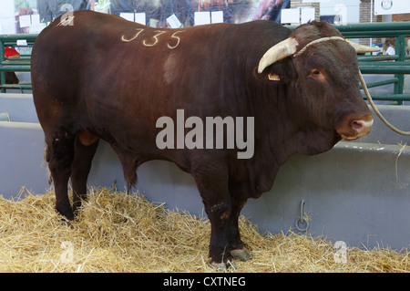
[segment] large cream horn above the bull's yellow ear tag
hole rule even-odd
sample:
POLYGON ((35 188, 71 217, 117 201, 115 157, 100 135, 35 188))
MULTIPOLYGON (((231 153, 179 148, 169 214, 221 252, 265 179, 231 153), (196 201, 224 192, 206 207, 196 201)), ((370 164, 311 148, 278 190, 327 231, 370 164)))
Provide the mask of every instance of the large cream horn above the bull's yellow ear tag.
POLYGON ((268 49, 268 51, 261 57, 258 66, 258 73, 261 74, 263 70, 282 58, 292 56, 296 53, 298 42, 295 38, 289 37, 282 40, 279 44, 268 49))

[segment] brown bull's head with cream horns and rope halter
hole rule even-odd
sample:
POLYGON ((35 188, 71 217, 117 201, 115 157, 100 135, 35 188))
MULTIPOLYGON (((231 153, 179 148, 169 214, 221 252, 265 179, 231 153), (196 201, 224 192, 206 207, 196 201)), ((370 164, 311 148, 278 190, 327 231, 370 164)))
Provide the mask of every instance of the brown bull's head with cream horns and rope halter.
MULTIPOLYGON (((378 49, 377 49, 378 50, 378 49)), ((275 64, 292 57, 295 86, 302 94, 302 109, 309 120, 326 130, 335 130, 343 140, 369 133, 373 117, 359 90, 356 54, 376 51, 349 42, 333 26, 313 22, 296 28, 289 38, 271 47, 261 57, 258 73, 271 82, 281 81, 275 64), (272 67, 271 67, 272 66, 272 67)))

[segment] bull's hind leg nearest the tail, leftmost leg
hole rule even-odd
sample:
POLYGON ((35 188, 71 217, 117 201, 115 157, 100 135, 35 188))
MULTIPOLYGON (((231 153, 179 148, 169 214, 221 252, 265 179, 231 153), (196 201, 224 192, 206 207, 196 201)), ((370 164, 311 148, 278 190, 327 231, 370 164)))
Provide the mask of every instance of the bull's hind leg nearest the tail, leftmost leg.
POLYGON ((46 134, 46 161, 56 192, 56 211, 74 219, 67 193, 67 183, 74 160, 74 137, 65 131, 46 134))

